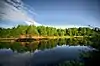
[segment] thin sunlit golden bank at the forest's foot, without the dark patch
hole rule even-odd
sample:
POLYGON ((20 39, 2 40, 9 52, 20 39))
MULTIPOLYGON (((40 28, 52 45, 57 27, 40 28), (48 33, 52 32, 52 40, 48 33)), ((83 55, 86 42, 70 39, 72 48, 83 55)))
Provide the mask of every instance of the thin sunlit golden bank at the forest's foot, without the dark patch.
POLYGON ((24 38, 0 38, 0 42, 14 42, 16 40, 23 40, 23 39, 33 39, 33 40, 42 40, 42 39, 59 39, 59 38, 83 38, 83 37, 91 37, 91 36, 34 36, 34 37, 24 37, 24 38))

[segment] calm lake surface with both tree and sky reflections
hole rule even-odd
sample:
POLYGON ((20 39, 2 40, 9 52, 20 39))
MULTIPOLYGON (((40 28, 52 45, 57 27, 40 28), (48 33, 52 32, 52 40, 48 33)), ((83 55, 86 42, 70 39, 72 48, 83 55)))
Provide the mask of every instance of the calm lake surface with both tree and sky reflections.
POLYGON ((78 45, 84 40, 72 41, 73 39, 1 42, 0 66, 60 66, 60 63, 67 61, 84 62, 84 53, 95 50, 84 46, 84 43, 78 45))

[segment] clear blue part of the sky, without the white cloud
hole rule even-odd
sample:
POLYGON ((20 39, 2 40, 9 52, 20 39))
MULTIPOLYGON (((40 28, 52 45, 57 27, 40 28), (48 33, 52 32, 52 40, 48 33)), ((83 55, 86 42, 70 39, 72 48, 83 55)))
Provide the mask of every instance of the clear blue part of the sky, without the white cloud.
MULTIPOLYGON (((34 14, 28 15, 43 25, 100 27, 99 0, 22 0, 22 2, 34 11, 34 14)), ((24 22, 8 22, 8 24, 12 26, 24 22)))

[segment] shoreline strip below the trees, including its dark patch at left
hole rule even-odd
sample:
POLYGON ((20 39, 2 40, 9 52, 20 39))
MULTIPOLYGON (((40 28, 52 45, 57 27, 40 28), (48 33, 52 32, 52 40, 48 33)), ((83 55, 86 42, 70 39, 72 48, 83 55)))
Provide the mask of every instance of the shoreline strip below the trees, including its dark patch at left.
POLYGON ((0 38, 0 42, 30 42, 40 41, 48 39, 65 39, 65 38, 84 38, 91 36, 34 36, 34 37, 22 37, 22 38, 0 38))

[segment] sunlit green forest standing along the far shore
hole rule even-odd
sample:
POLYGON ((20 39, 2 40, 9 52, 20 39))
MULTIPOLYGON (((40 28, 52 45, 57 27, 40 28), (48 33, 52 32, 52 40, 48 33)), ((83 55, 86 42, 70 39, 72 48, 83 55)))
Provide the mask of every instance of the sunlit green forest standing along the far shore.
POLYGON ((61 29, 45 26, 18 25, 13 28, 0 28, 0 38, 93 36, 95 33, 95 30, 89 27, 61 29))

